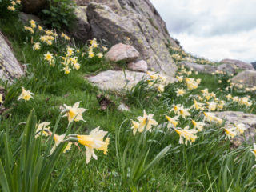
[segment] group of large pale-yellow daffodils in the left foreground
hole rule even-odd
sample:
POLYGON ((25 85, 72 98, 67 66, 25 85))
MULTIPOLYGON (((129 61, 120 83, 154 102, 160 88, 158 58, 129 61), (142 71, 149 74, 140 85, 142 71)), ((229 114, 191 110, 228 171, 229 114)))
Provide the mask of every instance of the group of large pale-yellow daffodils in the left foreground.
MULTIPOLYGON (((79 108, 80 102, 74 103, 73 106, 67 106, 64 104, 64 109, 62 110, 62 117, 67 117, 69 124, 71 122, 79 122, 85 120, 82 117, 82 114, 86 111, 86 109, 79 108)), ((50 137, 52 136, 52 132, 50 131, 50 122, 42 122, 38 124, 35 137, 39 135, 50 137)), ((54 150, 57 146, 66 142, 66 148, 63 150, 63 153, 66 153, 67 150, 70 150, 72 145, 75 145, 80 149, 79 144, 85 146, 86 148, 86 163, 90 162, 90 159, 93 157, 97 160, 97 155, 94 150, 102 150, 104 154, 107 154, 107 147, 110 143, 110 138, 106 138, 107 131, 100 130, 99 127, 90 131, 90 134, 54 134, 54 146, 50 150, 50 154, 54 153, 54 150), (104 140, 104 138, 106 138, 104 140)))

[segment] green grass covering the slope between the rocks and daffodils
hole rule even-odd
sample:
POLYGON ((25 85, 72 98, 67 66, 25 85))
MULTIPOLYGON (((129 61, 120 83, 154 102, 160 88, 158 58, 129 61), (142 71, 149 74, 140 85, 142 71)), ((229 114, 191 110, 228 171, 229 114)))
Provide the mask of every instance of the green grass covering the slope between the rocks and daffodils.
MULTIPOLYGON (((108 154, 97 151, 97 161, 92 159, 86 164, 83 146, 82 151, 73 146, 66 154, 61 154, 51 173, 52 179, 58 177, 66 163, 68 166, 56 191, 256 191, 256 172, 252 169, 255 160, 250 152, 251 146, 230 148, 230 142, 224 140, 222 125, 210 125, 198 134, 196 142, 191 146, 179 145, 178 134, 174 130, 168 131, 166 126, 151 133, 136 134, 135 137, 130 130, 130 119, 141 116, 144 109, 147 114, 153 113, 154 119, 161 125, 166 122, 164 114, 170 114, 170 107, 174 103, 189 107, 193 103, 191 95, 200 94, 200 90, 205 88, 210 92, 214 91, 218 98, 225 99, 223 94, 228 93, 225 91, 226 85, 218 84, 222 77, 193 73, 191 78, 201 78, 202 83, 197 90, 192 90, 181 98, 176 97, 174 91, 177 87, 185 88, 182 83, 166 86, 162 96, 158 96, 153 87, 148 90, 146 82, 140 82, 125 95, 117 95, 99 90, 84 79, 86 75, 97 74, 113 67, 104 59, 81 57, 78 59, 81 69, 65 75, 58 70, 42 67, 42 64, 46 66, 42 54, 47 49, 57 54, 62 53, 66 44, 59 43, 52 48, 44 47, 35 52, 31 49, 30 38, 26 38, 28 34, 22 32, 20 22, 14 21, 10 24, 6 20, 0 20, 0 29, 10 39, 18 60, 26 63, 28 69, 26 77, 7 86, 9 93, 5 106, 10 110, 7 116, 0 116, 0 133, 6 133, 7 128, 9 129, 11 149, 14 149, 24 131, 24 124, 21 122, 26 122, 32 109, 38 121, 51 122, 54 126, 61 111, 60 106, 81 101, 80 107, 88 109, 83 114, 86 122, 75 122, 70 131, 88 134, 90 130, 100 126, 102 130, 109 132, 108 154), (21 86, 35 94, 33 100, 17 101, 21 86), (96 98, 98 94, 107 95, 116 106, 120 102, 126 102, 131 111, 120 112, 116 108, 100 110, 96 98), (170 146, 166 155, 159 158, 159 162, 150 166, 150 169, 146 169, 166 146, 170 146), (71 154, 74 156, 69 162, 71 154)), ((82 50, 87 46, 78 48, 82 50)), ((232 92, 233 96, 240 97, 247 94, 237 90, 232 92)), ((252 98, 255 96, 254 93, 249 94, 252 98)), ((242 110, 255 114, 254 106, 247 109, 230 105, 226 110, 242 110)), ((202 120, 197 111, 191 118, 202 120)), ((190 120, 181 120, 180 126, 189 125, 189 122, 190 120)), ((65 133, 67 124, 67 119, 61 118, 56 133, 65 133)), ((1 160, 4 157, 5 153, 1 150, 1 160)))

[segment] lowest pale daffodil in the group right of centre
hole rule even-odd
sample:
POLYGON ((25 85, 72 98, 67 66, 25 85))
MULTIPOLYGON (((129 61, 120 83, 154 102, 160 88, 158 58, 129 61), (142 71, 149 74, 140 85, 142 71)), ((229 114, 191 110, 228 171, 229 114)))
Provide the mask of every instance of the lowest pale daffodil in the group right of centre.
POLYGON ((198 130, 189 130, 189 126, 186 126, 183 130, 181 128, 174 128, 177 134, 179 134, 179 143, 183 144, 185 139, 185 145, 187 145, 187 142, 190 142, 192 144, 195 142, 195 139, 197 138, 196 133, 198 133, 198 130), (183 139, 184 138, 184 139, 183 139))

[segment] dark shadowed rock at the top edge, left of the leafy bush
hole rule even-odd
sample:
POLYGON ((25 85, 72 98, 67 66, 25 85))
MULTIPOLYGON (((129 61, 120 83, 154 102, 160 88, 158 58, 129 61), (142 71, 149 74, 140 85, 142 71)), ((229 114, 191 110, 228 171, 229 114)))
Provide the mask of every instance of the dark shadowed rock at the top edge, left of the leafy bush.
POLYGON ((22 10, 26 14, 38 14, 46 6, 46 0, 22 0, 22 10))

